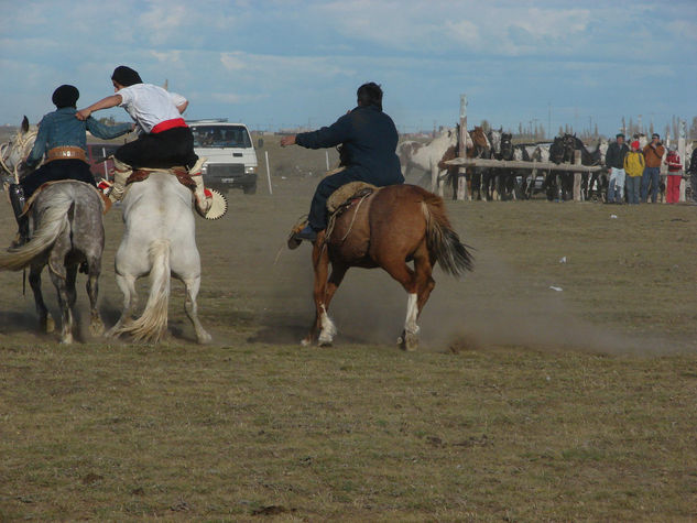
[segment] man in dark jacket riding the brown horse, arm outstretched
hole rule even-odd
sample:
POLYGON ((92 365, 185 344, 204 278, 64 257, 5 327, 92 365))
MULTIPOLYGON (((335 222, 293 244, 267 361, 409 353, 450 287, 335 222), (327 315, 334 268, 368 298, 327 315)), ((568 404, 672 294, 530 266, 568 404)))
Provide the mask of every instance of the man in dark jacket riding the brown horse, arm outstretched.
POLYGON ((342 171, 325 177, 309 208, 308 226, 297 239, 314 241, 327 227, 327 198, 349 182, 366 182, 382 187, 404 183, 400 160, 395 154, 399 135, 392 119, 382 112, 382 89, 374 83, 358 88, 358 107, 329 127, 313 132, 284 137, 281 145, 296 143, 307 149, 342 144, 342 171))

